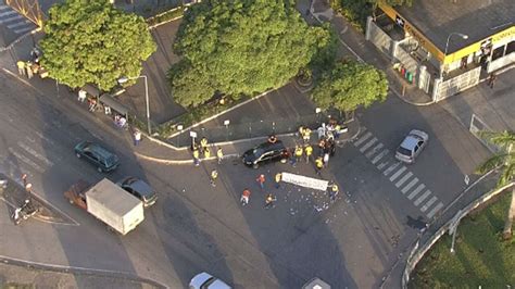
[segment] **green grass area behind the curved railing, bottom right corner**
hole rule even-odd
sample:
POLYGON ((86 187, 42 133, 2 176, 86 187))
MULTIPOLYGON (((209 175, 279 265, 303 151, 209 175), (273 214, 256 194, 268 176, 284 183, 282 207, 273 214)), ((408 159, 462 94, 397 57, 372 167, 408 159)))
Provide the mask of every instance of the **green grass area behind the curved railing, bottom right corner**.
POLYGON ((412 274, 410 288, 506 288, 515 285, 515 238, 501 241, 511 191, 457 228, 455 253, 445 234, 412 274))

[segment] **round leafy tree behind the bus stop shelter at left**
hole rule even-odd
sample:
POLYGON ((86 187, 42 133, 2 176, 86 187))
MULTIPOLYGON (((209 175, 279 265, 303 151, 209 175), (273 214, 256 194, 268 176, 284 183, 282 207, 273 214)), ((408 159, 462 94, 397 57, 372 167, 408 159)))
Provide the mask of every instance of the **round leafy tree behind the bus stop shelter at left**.
POLYGON ((95 84, 110 90, 121 77, 135 77, 156 49, 145 20, 108 0, 54 4, 45 24, 41 65, 70 87, 95 84))

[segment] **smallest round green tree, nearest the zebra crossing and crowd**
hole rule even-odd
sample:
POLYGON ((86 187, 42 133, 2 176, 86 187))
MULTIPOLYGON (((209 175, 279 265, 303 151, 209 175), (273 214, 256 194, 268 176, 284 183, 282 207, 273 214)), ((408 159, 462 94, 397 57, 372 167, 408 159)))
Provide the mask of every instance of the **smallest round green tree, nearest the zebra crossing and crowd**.
POLYGON ((322 109, 351 112, 360 105, 367 108, 376 101, 384 101, 387 95, 388 80, 384 72, 373 65, 344 61, 323 75, 312 99, 322 109))

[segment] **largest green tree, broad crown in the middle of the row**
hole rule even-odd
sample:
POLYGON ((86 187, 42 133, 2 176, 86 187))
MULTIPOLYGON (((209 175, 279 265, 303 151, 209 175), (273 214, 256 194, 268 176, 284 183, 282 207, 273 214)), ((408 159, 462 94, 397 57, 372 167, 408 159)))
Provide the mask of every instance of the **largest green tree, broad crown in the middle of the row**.
POLYGON ((168 74, 172 95, 194 106, 216 92, 280 87, 328 41, 328 30, 307 26, 293 0, 202 1, 186 13, 174 45, 183 60, 168 74))

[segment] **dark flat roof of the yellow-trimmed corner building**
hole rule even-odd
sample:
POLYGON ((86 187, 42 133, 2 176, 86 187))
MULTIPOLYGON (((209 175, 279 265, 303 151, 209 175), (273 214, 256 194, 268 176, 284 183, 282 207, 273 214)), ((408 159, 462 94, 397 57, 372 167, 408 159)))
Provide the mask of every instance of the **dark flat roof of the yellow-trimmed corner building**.
POLYGON ((451 33, 468 35, 466 40, 453 37, 454 41, 449 41, 448 54, 515 26, 515 0, 414 0, 413 2, 412 7, 394 9, 441 51, 444 51, 451 33))

